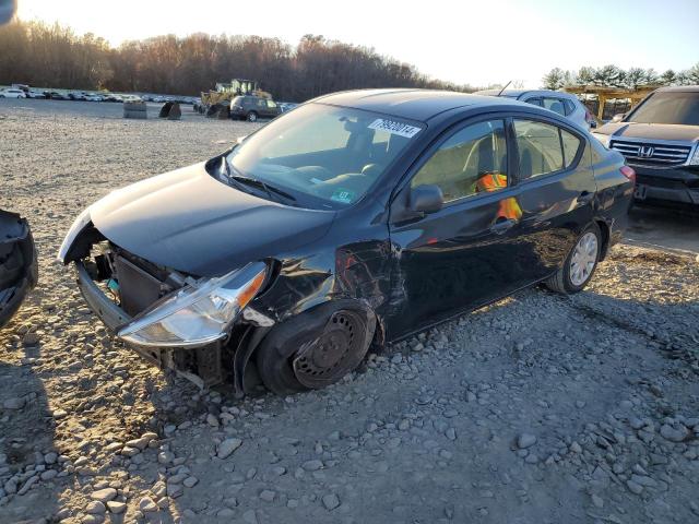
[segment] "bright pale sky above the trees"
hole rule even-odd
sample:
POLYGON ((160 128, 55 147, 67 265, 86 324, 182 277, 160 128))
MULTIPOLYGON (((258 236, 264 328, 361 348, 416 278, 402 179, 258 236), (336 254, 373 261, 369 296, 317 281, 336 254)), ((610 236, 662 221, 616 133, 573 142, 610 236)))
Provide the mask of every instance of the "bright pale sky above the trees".
POLYGON ((555 67, 663 72, 699 62, 699 0, 17 1, 22 20, 57 21, 115 46, 168 33, 256 34, 289 44, 316 34, 474 86, 512 80, 538 87, 555 67))

